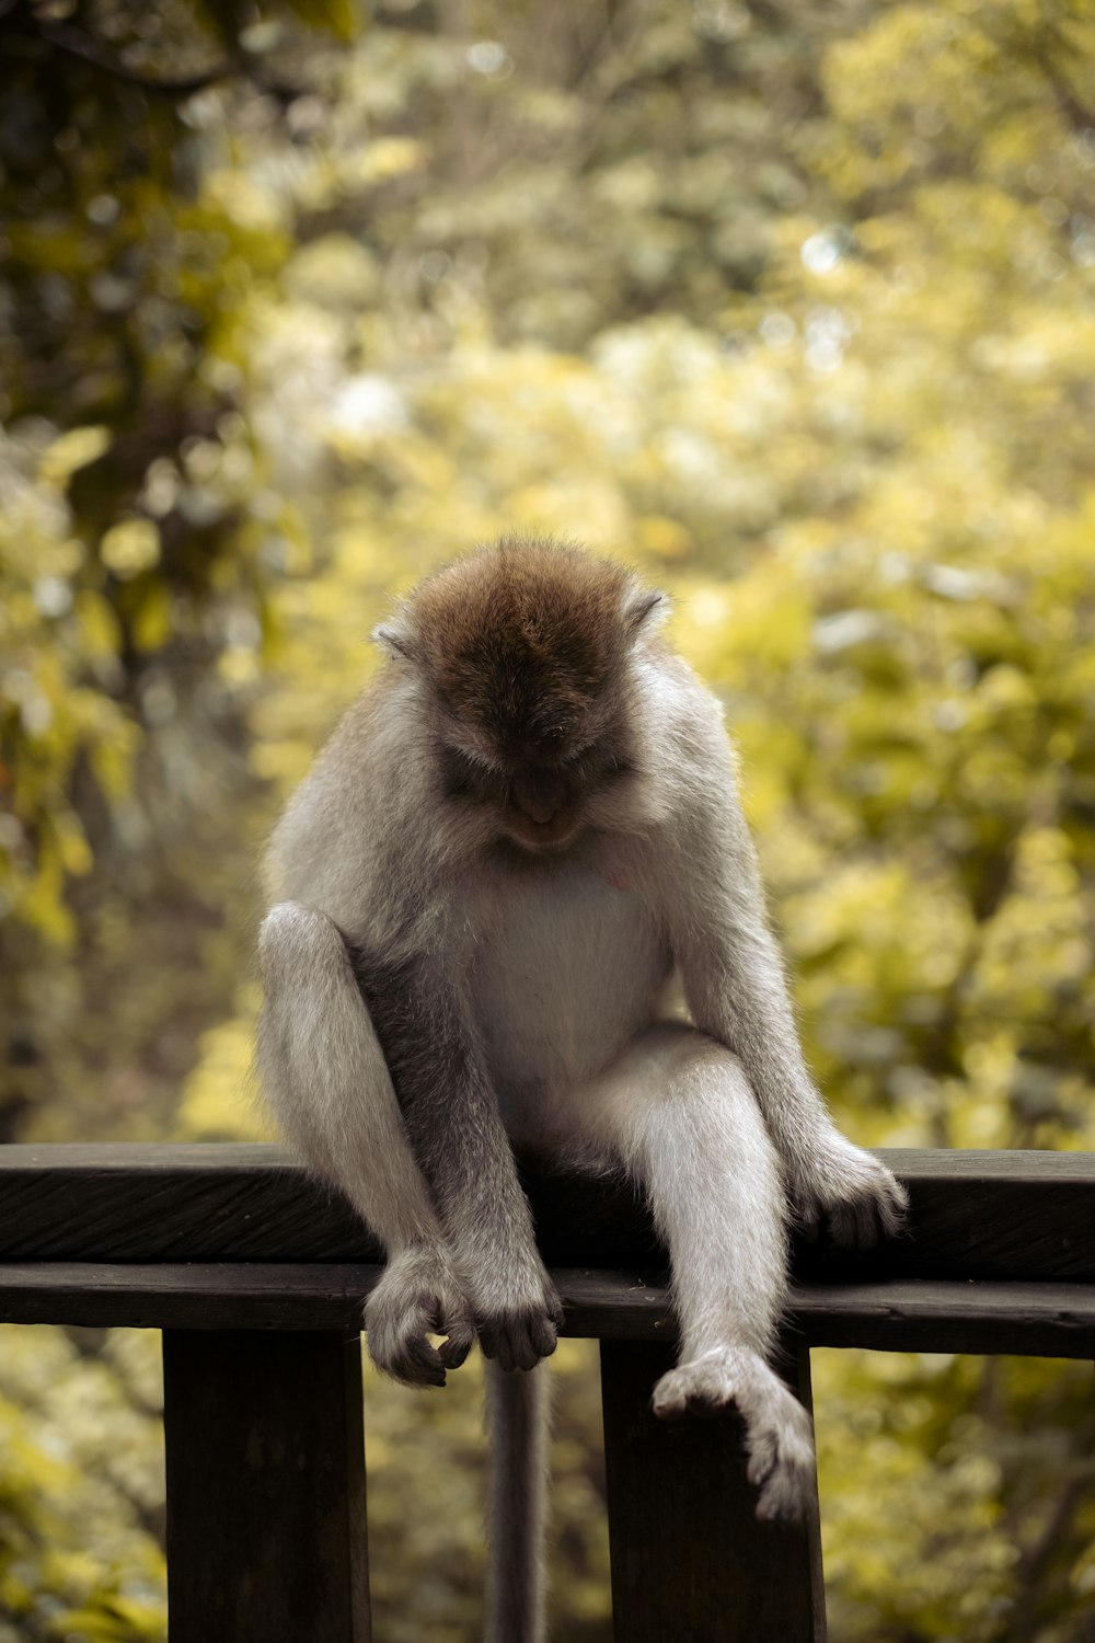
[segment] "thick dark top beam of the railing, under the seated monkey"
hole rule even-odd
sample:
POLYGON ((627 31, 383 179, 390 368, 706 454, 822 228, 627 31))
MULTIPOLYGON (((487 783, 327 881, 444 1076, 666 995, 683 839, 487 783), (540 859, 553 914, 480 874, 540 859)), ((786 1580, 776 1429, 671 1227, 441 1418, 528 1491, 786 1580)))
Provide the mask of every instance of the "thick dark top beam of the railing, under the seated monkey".
MULTIPOLYGON (((809 1278, 1095 1282, 1095 1155, 882 1153, 911 1191, 903 1237, 868 1257, 799 1249, 809 1278)), ((622 1183, 530 1178, 552 1267, 657 1265, 622 1183)), ((0 1260, 337 1262, 379 1250, 335 1194, 271 1145, 0 1147, 0 1260)))

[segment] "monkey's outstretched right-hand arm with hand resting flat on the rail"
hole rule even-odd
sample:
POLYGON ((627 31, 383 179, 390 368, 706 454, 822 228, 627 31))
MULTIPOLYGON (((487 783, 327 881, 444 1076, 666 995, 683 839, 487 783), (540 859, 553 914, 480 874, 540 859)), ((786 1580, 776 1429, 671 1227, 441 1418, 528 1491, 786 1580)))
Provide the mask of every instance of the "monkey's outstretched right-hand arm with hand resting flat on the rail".
POLYGON ((680 818, 668 923, 688 1007, 696 1027, 742 1061, 796 1221, 808 1231, 826 1221, 836 1242, 868 1245, 898 1229, 906 1194, 841 1134, 809 1076, 726 743, 721 752, 724 780, 714 790, 709 779, 690 784, 680 818))

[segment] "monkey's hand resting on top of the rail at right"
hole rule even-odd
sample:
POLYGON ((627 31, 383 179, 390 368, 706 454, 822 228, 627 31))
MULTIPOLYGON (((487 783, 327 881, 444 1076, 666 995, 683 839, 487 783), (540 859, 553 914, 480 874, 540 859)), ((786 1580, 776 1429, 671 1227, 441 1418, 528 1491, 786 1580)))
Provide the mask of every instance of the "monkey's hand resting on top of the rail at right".
POLYGON ((834 1244, 870 1249, 900 1231, 908 1193, 885 1163, 836 1127, 798 1157, 785 1157, 783 1170, 795 1222, 811 1242, 826 1229, 834 1244))

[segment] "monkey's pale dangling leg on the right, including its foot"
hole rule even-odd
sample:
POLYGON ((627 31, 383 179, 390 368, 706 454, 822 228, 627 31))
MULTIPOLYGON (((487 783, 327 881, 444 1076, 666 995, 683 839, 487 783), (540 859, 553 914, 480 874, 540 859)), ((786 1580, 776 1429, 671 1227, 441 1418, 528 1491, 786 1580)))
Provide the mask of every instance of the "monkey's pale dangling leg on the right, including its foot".
POLYGON ((786 1293, 785 1194, 740 1061, 663 1024, 575 1102, 575 1122, 644 1183, 670 1249, 681 1360, 653 1390, 655 1415, 737 1405, 758 1515, 799 1516, 814 1479, 809 1416, 767 1362, 786 1293))

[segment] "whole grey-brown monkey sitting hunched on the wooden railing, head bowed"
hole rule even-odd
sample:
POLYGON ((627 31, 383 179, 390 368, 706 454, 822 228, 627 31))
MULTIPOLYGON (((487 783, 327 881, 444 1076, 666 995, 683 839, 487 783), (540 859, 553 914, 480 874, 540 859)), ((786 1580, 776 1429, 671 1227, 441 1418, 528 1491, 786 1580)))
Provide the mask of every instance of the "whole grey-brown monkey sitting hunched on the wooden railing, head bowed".
POLYGON ((735 1405, 772 1520, 814 1477, 772 1367, 788 1229, 864 1247, 905 1208, 806 1068, 737 754, 665 614, 550 539, 451 562, 376 628, 386 662, 268 851, 259 1075, 387 1252, 371 1355, 409 1385, 476 1337, 488 1359, 489 1643, 543 1636, 537 1365, 563 1323, 517 1153, 639 1183, 680 1324, 653 1413, 735 1405))

